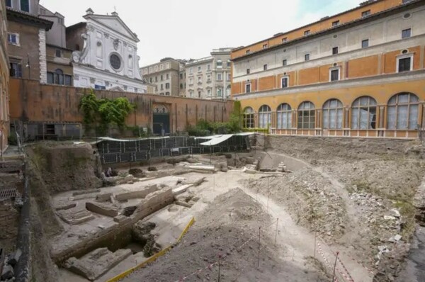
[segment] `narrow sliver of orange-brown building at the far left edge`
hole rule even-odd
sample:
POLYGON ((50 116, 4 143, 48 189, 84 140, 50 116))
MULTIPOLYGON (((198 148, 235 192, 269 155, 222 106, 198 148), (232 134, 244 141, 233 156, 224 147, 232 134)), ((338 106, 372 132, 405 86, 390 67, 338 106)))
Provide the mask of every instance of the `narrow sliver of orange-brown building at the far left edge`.
POLYGON ((8 145, 9 61, 7 54, 6 6, 0 1, 0 156, 8 145))

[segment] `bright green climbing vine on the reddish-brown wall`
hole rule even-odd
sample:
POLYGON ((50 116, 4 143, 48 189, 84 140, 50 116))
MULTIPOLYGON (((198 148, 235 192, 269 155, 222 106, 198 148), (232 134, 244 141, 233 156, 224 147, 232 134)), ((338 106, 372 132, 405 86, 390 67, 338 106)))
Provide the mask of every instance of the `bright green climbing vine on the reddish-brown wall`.
POLYGON ((120 129, 125 128, 125 119, 135 108, 135 104, 130 103, 128 98, 99 99, 93 90, 84 95, 79 104, 84 125, 87 128, 98 126, 101 130, 106 130, 110 125, 117 125, 120 129))

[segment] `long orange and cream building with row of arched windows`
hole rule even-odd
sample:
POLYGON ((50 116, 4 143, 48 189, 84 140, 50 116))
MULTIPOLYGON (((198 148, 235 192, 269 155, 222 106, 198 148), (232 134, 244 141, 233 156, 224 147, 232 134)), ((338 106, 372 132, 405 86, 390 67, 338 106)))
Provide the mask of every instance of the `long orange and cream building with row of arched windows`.
POLYGON ((375 0, 232 51, 245 128, 273 134, 418 135, 425 1, 375 0))

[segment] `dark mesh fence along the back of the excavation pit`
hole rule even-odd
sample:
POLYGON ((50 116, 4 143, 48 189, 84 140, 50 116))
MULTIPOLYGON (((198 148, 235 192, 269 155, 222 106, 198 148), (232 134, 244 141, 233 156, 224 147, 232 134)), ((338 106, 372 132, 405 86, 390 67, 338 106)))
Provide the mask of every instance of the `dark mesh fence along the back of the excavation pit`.
POLYGON ((215 146, 203 146, 203 137, 160 137, 142 140, 100 140, 96 142, 103 164, 142 162, 154 157, 176 157, 185 154, 241 152, 249 147, 246 136, 234 135, 215 146))

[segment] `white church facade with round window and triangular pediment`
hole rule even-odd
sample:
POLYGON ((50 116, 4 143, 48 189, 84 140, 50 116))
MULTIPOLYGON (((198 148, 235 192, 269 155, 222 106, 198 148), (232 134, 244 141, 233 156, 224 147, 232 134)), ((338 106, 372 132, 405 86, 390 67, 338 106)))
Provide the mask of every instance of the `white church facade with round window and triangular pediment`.
POLYGON ((118 13, 96 15, 88 9, 85 22, 67 27, 74 86, 146 93, 137 55, 140 41, 118 13))

